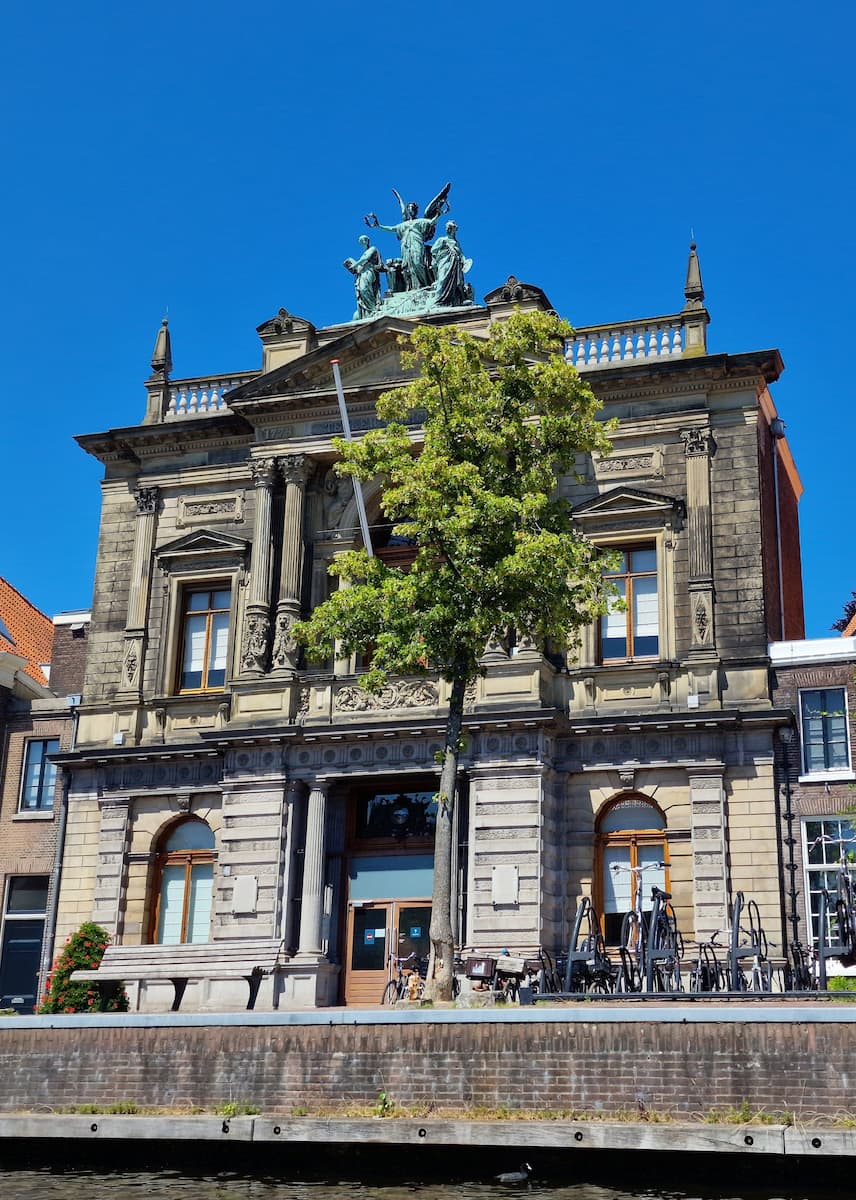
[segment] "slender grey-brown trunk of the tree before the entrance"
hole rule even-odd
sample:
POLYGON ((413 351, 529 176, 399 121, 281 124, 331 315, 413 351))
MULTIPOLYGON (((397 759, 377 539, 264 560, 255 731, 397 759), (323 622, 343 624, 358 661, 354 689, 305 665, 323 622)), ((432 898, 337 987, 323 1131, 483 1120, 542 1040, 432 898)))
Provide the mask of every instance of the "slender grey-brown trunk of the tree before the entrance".
POLYGON ((451 926, 451 872, 455 869, 453 840, 454 812, 457 790, 457 757, 463 725, 463 677, 451 682, 449 716, 443 746, 443 770, 439 776, 437 832, 433 841, 433 893, 431 896, 431 953, 429 956, 426 1000, 451 1000, 451 977, 455 960, 455 935, 451 926))

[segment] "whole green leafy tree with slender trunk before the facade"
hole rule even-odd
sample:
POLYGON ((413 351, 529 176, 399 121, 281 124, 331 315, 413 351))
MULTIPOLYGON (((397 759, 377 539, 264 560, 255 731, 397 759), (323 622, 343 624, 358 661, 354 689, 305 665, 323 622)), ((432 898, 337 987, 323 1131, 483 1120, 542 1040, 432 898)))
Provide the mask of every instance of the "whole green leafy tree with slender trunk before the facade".
POLYGON ((298 626, 311 659, 339 640, 372 647, 363 683, 437 672, 450 685, 435 835, 426 996, 451 997, 453 809, 467 684, 491 636, 564 646, 605 611, 604 556, 571 523, 558 478, 610 450, 599 401, 564 359, 570 326, 515 313, 484 338, 420 326, 402 338, 417 377, 381 396, 385 422, 336 439, 340 474, 379 479, 382 509, 417 545, 408 569, 365 551, 337 557, 340 588, 298 626))

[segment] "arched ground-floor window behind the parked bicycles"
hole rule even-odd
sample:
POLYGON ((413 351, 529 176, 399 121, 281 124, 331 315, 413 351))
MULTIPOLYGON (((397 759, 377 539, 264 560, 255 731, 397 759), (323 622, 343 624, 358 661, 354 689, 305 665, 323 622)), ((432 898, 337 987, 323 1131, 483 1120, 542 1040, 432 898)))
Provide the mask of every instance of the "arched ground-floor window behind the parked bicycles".
POLYGON ((640 883, 644 912, 651 911, 653 886, 669 890, 665 828, 659 808, 636 792, 612 800, 598 818, 597 906, 607 946, 618 944, 624 913, 635 906, 640 883))

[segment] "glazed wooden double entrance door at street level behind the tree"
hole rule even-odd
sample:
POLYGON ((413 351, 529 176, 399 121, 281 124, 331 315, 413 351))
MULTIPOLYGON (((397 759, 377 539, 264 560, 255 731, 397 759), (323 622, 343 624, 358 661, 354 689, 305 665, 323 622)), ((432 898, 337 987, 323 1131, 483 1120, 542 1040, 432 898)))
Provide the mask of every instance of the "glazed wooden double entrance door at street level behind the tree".
POLYGON ((345 1003, 373 1007, 394 971, 390 955, 427 958, 427 900, 365 900, 348 905, 345 1003))

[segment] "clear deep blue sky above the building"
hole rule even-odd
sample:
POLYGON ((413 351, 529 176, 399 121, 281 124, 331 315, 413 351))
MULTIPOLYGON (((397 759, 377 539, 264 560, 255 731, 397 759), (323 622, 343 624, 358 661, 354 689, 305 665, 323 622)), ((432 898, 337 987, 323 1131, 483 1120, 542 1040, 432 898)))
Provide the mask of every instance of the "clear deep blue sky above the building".
POLYGON ((349 318, 364 212, 451 180, 477 295, 514 274, 579 325, 680 308, 695 230, 711 349, 784 355, 828 631, 856 588, 851 5, 46 0, 4 25, 0 574, 44 611, 91 600, 101 469, 72 434, 142 419, 167 307, 176 376, 256 367, 281 305, 349 318))

